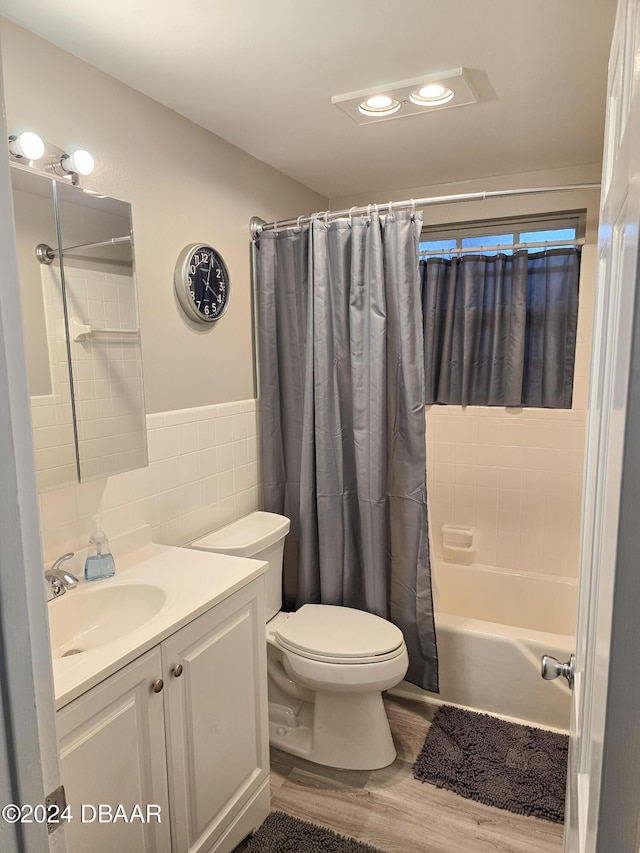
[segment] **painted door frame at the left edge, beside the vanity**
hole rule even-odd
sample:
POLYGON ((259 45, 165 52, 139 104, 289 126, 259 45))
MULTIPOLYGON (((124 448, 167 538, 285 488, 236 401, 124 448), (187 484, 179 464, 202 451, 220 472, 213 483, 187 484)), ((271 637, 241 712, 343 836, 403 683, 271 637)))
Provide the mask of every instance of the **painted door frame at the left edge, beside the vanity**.
MULTIPOLYGON (((0 56, 1 60, 1 56, 0 56)), ((0 136, 8 138, 0 70, 0 136)), ((60 784, 9 153, 0 145, 0 806, 60 784)), ((3 853, 64 853, 64 831, 0 818, 3 853)))

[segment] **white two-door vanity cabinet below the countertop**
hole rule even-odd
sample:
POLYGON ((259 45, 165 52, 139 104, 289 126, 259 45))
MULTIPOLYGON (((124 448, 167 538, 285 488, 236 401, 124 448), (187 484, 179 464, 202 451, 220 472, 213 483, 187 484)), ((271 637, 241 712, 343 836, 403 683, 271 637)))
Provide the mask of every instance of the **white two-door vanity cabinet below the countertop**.
POLYGON ((58 712, 74 817, 82 803, 127 813, 157 804, 162 815, 161 824, 74 820, 68 853, 230 853, 264 820, 264 624, 259 578, 58 712))

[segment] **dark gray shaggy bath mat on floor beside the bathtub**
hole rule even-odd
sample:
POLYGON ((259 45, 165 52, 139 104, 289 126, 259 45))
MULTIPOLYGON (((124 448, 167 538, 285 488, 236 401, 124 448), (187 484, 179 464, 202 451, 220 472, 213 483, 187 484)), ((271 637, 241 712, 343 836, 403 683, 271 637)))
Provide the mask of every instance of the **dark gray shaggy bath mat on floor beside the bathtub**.
POLYGON ((443 705, 413 775, 469 800, 562 823, 568 741, 566 735, 443 705))

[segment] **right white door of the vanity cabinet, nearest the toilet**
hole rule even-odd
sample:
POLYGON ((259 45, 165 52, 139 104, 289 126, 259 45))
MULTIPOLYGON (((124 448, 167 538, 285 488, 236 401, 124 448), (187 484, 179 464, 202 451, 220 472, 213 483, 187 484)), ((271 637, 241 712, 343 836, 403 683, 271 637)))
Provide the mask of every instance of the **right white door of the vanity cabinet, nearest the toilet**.
POLYGON ((268 812, 262 578, 166 640, 162 654, 173 848, 232 849, 268 812), (264 813, 256 819, 252 804, 243 814, 261 788, 264 813))

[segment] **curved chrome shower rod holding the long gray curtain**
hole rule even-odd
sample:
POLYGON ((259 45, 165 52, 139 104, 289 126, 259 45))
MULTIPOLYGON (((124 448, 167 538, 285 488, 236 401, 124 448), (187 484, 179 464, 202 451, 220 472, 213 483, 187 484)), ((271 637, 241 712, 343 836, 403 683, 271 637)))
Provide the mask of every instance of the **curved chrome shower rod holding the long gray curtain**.
POLYGON ((313 213, 311 216, 299 216, 297 219, 285 219, 277 222, 265 222, 259 216, 252 216, 249 221, 249 232, 252 240, 258 240, 263 231, 277 231, 280 228, 299 228, 301 225, 311 222, 312 219, 323 219, 328 222, 330 219, 340 219, 348 216, 366 216, 371 215, 373 210, 387 209, 387 213, 392 210, 401 210, 409 208, 415 210, 418 207, 429 207, 435 204, 452 204, 461 201, 486 201, 488 198, 504 198, 508 196, 518 195, 539 195, 542 193, 558 193, 558 192, 578 192, 579 190, 596 190, 600 189, 600 184, 566 184, 558 187, 529 187, 520 190, 485 190, 477 193, 462 193, 460 195, 442 195, 432 196, 430 198, 410 198, 405 201, 388 201, 383 204, 367 204, 363 207, 351 207, 348 210, 325 210, 320 213, 313 213))

